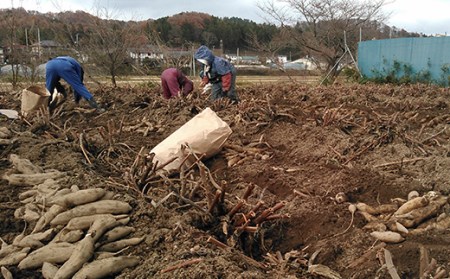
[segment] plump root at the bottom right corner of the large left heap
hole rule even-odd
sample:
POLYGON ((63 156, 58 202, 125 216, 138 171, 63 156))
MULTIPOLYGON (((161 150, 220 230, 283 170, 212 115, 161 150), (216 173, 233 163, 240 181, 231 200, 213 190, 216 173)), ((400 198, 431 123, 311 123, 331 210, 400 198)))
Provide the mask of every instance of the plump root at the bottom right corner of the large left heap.
POLYGON ((104 278, 121 272, 127 267, 135 267, 140 262, 138 257, 122 256, 95 260, 84 265, 73 279, 104 278))

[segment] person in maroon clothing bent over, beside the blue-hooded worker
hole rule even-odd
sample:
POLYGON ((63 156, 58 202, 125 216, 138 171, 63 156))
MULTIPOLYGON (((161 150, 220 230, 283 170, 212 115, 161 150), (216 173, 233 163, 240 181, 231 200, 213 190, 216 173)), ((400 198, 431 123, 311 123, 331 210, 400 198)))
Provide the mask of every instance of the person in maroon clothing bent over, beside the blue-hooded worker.
POLYGON ((192 80, 176 68, 168 68, 162 72, 161 86, 166 99, 177 97, 180 93, 186 96, 194 89, 192 80))

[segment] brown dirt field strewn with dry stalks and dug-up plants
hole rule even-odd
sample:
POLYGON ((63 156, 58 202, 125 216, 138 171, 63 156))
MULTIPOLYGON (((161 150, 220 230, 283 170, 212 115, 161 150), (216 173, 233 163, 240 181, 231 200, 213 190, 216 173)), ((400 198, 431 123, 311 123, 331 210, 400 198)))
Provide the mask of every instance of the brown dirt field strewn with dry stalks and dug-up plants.
MULTIPOLYGON (((2 117, 11 135, 0 145, 0 175, 19 172, 10 160, 16 154, 64 172, 56 180, 62 187, 101 187, 129 203, 131 237, 144 240, 114 255, 139 257, 117 278, 443 278, 450 271, 448 89, 284 82, 238 90, 242 102, 229 105, 197 90, 165 101, 151 83, 104 87, 93 90, 103 114, 70 99, 50 118, 2 117), (138 154, 206 107, 233 130, 224 149, 205 167, 154 174, 138 154), (423 203, 400 214, 411 191, 423 203), (373 231, 400 238, 383 242, 373 231)), ((0 109, 20 109, 19 92, 0 98, 0 109)), ((35 227, 14 217, 25 204, 19 195, 33 186, 10 184, 0 180, 7 244, 35 227)), ((43 278, 40 267, 6 267, 14 278, 43 278)))

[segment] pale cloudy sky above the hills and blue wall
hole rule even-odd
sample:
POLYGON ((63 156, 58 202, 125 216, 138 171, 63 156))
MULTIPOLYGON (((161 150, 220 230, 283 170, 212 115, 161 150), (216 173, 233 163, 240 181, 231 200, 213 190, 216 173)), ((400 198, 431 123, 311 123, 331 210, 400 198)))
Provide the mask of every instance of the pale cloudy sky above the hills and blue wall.
MULTIPOLYGON (((105 7, 122 20, 157 19, 181 12, 204 12, 218 17, 239 17, 265 22, 256 3, 261 0, 1 0, 0 8, 23 7, 26 10, 61 12, 83 10, 95 14, 105 7), (57 4, 59 3, 59 4, 57 4), (119 12, 120 11, 120 12, 119 12)), ((450 0, 387 0, 384 11, 390 13, 390 26, 428 35, 450 35, 450 0)))

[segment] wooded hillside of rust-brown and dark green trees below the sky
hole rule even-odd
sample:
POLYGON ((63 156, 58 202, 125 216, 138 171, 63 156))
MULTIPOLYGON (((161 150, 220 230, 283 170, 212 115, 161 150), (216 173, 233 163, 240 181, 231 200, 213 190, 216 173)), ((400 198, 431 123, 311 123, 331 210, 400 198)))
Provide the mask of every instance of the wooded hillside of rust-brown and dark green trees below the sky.
MULTIPOLYGON (((112 21, 118 27, 136 28, 147 38, 158 36, 162 43, 169 47, 183 47, 190 44, 205 44, 219 48, 221 40, 224 50, 236 48, 253 48, 252 39, 260 43, 270 42, 279 32, 273 24, 258 24, 247 19, 236 17, 219 18, 205 13, 180 13, 170 17, 144 21, 117 21, 100 19, 83 11, 39 13, 19 9, 0 9, 0 45, 8 46, 11 36, 18 44, 29 45, 40 40, 54 40, 60 44, 72 46, 95 28, 98 21, 112 21), (14 20, 13 20, 14 19, 14 20), (12 35, 11 30, 15 30, 12 35), (39 35, 38 35, 39 30, 39 35), (77 41, 78 40, 78 41, 77 41)), ((377 39, 389 36, 418 36, 402 29, 391 28, 383 24, 367 24, 363 36, 377 39)), ((292 49, 285 49, 289 53, 292 49)))

